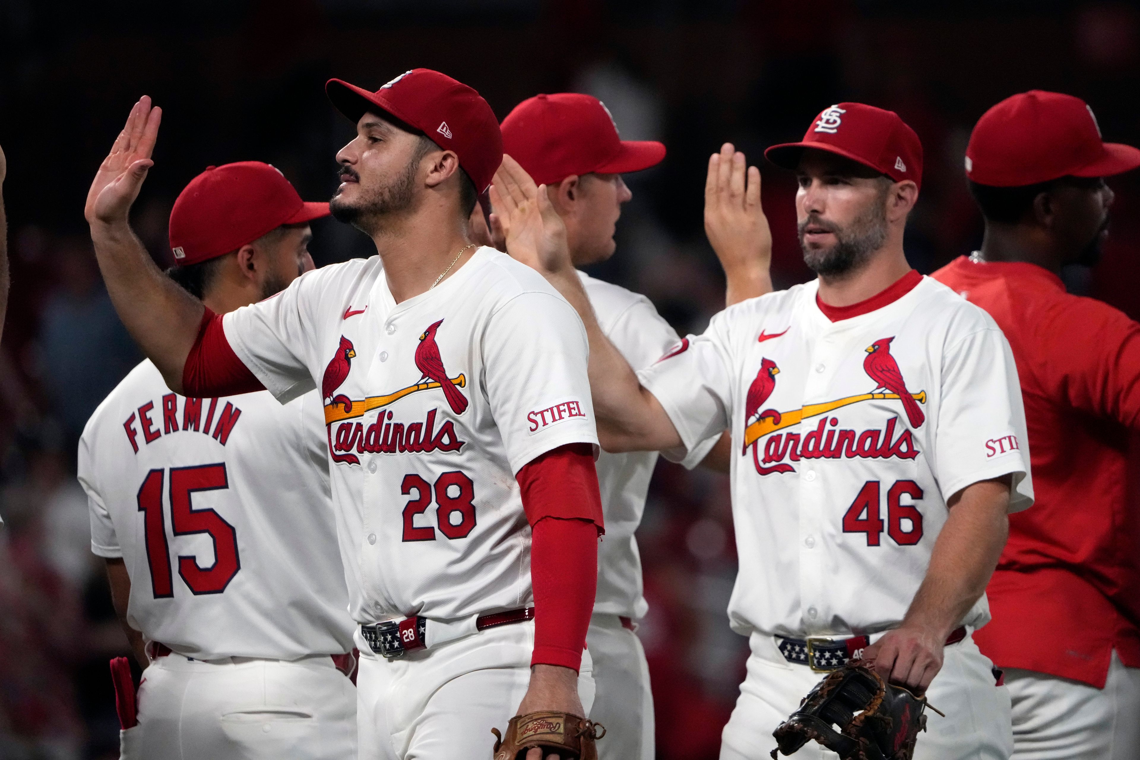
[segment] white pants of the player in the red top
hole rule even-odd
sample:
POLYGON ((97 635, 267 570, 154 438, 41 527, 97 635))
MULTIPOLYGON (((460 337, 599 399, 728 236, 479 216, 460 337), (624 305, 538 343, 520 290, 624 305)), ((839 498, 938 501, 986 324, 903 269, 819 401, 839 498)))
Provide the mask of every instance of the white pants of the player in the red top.
POLYGON ((1010 668, 1013 760, 1140 758, 1140 668, 1113 652, 1100 689, 1081 681, 1010 668))

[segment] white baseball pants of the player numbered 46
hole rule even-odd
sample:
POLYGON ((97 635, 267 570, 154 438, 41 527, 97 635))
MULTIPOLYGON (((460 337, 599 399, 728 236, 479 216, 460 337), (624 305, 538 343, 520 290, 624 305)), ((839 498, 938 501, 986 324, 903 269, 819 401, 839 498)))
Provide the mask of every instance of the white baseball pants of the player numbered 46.
MULTIPOLYGON (((772 732, 826 675, 784 660, 771 636, 754 632, 749 644, 748 676, 724 728, 720 760, 767 758, 776 745, 772 732)), ((942 670, 927 697, 946 717, 927 711, 927 730, 919 734, 915 760, 1007 760, 1013 749, 1010 697, 1004 686, 995 685, 993 663, 971 636, 944 652, 942 670)), ((808 742, 796 758, 834 760, 838 755, 808 742)))

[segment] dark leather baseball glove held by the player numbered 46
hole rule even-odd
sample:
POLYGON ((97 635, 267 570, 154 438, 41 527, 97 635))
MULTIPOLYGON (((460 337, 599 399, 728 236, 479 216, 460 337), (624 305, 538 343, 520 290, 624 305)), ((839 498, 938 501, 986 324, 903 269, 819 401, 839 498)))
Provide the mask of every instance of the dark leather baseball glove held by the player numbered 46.
POLYGON ((772 757, 792 754, 814 738, 842 760, 911 760, 919 732, 926 730, 926 697, 888 684, 873 663, 848 662, 816 684, 772 733, 777 744, 772 757))

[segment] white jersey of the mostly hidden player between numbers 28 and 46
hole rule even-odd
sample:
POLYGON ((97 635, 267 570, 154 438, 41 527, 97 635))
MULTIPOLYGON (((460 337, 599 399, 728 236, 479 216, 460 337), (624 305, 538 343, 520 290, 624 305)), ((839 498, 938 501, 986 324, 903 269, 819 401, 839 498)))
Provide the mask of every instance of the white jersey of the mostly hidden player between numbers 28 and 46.
MULTIPOLYGON (((649 367, 677 344, 669 322, 644 295, 578 272, 605 337, 630 367, 649 367)), ((712 436, 697 446, 700 461, 718 440, 712 436)), ((597 598, 594 612, 645 616, 649 605, 642 596, 641 555, 634 531, 645 512, 645 495, 657 464, 657 451, 630 451, 597 457, 597 483, 602 489, 605 537, 597 549, 597 598)))

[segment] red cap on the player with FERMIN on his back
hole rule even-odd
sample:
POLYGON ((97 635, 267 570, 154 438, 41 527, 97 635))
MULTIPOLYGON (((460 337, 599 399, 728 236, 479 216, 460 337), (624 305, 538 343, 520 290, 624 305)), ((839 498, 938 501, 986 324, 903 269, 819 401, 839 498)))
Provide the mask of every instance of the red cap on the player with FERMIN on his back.
POLYGON ((276 166, 241 161, 206 166, 170 212, 174 263, 188 267, 237 251, 282 224, 328 215, 327 203, 308 203, 276 166))

